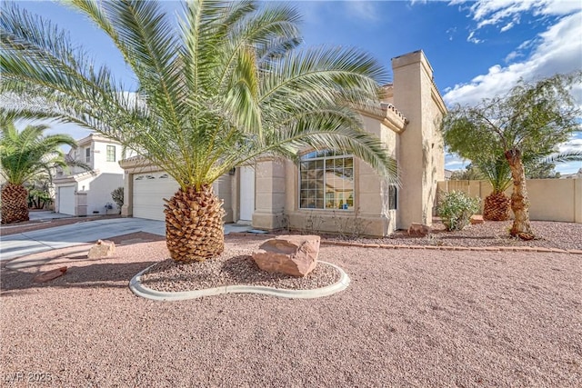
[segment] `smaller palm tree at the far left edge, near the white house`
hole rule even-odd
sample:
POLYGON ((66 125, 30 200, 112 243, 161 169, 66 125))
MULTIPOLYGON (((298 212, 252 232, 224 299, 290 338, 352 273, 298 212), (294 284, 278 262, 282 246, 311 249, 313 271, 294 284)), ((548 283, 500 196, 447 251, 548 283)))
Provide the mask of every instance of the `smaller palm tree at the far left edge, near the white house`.
POLYGON ((0 125, 0 174, 2 186, 2 224, 28 221, 28 191, 25 183, 40 174, 51 176, 56 166, 65 167, 61 145, 75 146, 67 134, 44 135, 46 125, 28 125, 18 132, 14 121, 0 125))

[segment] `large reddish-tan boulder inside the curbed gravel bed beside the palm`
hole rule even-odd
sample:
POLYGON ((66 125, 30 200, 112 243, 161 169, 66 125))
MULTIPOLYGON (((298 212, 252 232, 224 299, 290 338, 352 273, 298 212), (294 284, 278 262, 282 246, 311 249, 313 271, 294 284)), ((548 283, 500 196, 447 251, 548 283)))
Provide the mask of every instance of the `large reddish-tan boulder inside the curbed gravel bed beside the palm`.
POLYGON ((305 276, 316 268, 320 241, 318 235, 280 235, 261 244, 253 259, 263 271, 305 276))

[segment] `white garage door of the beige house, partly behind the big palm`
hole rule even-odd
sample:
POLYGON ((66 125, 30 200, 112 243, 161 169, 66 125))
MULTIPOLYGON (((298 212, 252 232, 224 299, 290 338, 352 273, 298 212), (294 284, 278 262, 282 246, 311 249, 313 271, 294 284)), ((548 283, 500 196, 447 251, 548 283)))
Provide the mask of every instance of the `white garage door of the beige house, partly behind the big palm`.
POLYGON ((164 198, 170 199, 179 187, 164 172, 134 174, 134 217, 164 221, 164 198))

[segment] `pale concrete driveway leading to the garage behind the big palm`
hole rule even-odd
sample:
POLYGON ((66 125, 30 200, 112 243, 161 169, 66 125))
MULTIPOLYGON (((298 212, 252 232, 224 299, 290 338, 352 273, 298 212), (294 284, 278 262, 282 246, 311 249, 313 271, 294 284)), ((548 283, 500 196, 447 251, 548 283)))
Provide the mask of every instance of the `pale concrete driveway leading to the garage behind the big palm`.
MULTIPOLYGON (((248 229, 250 227, 246 225, 225 224, 225 234, 248 229)), ((104 240, 136 232, 165 235, 166 224, 163 221, 142 218, 112 218, 7 235, 2 237, 2 244, 0 244, 0 260, 10 260, 26 254, 94 243, 99 239, 104 240)))

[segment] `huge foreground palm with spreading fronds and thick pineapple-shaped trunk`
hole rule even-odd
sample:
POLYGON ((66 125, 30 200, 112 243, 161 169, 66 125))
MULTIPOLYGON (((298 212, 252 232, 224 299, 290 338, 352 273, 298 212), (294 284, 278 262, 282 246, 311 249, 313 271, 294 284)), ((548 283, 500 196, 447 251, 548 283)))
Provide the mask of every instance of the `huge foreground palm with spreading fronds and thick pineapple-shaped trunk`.
POLYGON ((180 189, 166 243, 180 262, 224 249, 211 184, 260 155, 298 163, 305 148, 350 152, 392 182, 396 164, 357 109, 372 109, 386 72, 351 48, 300 47, 296 9, 255 1, 182 3, 178 24, 155 1, 69 2, 109 35, 133 70, 125 92, 67 35, 15 6, 0 19, 4 109, 60 117, 137 150, 180 189))

